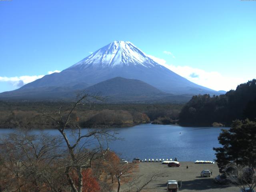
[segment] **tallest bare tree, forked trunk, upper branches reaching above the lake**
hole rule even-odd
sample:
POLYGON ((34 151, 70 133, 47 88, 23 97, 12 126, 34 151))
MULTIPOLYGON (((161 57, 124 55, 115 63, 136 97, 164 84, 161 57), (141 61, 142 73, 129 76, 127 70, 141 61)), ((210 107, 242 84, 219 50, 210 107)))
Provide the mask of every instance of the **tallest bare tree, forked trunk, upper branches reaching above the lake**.
POLYGON ((57 116, 43 114, 43 116, 54 121, 56 128, 66 144, 68 157, 62 163, 65 169, 65 175, 73 192, 82 192, 82 170, 91 168, 95 160, 104 158, 109 150, 108 141, 116 139, 114 133, 106 130, 93 129, 83 131, 79 126, 77 118, 73 116, 74 110, 80 105, 84 106, 90 98, 99 99, 98 96, 84 94, 73 104, 66 115, 62 114, 61 107, 57 116), (77 182, 75 181, 76 176, 78 177, 77 182))

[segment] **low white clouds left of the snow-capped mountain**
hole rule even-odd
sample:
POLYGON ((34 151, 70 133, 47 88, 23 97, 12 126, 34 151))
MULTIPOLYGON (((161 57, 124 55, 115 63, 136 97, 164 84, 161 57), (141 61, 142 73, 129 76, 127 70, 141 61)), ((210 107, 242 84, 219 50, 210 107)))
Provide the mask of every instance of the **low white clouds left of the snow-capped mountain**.
MULTIPOLYGON (((54 71, 48 71, 48 74, 52 74, 52 73, 59 73, 59 70, 54 70, 54 71)), ((12 86, 14 88, 20 88, 23 85, 30 83, 34 80, 40 79, 42 78, 44 75, 33 75, 33 76, 19 76, 19 77, 1 77, 0 76, 0 82, 8 82, 10 84, 12 84, 12 86)))

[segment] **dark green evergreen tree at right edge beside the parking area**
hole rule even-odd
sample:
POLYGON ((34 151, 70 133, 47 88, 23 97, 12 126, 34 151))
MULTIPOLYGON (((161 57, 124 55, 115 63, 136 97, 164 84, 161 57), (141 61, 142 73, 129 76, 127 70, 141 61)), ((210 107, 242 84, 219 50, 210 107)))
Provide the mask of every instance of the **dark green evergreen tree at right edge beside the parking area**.
POLYGON ((230 163, 256 167, 256 122, 235 120, 229 130, 222 130, 218 140, 222 147, 213 149, 220 172, 230 163))

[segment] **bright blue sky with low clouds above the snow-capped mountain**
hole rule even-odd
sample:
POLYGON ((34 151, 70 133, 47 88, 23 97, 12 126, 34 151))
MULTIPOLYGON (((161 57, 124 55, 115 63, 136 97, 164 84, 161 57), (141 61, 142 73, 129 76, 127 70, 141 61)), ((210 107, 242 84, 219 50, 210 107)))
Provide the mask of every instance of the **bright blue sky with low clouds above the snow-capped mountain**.
POLYGON ((0 18, 0 92, 114 40, 215 90, 256 78, 256 1, 6 0, 0 18))

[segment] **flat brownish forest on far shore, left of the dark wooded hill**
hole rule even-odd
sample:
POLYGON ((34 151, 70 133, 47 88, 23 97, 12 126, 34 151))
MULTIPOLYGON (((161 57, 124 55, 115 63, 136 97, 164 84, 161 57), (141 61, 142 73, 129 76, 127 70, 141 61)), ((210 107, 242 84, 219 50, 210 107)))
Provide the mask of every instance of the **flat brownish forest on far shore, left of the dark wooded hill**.
MULTIPOLYGON (((54 122, 38 114, 58 112, 60 106, 65 113, 71 105, 69 102, 0 101, 0 128, 51 128, 54 122)), ((157 124, 175 122, 181 108, 181 104, 93 103, 76 108, 73 115, 83 127, 122 127, 151 121, 157 124)))

